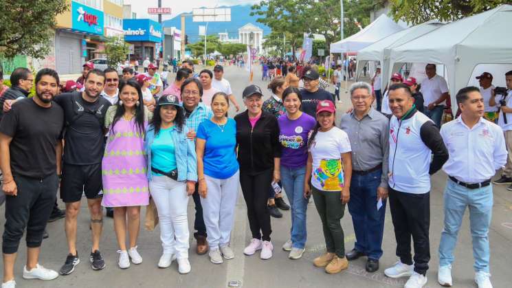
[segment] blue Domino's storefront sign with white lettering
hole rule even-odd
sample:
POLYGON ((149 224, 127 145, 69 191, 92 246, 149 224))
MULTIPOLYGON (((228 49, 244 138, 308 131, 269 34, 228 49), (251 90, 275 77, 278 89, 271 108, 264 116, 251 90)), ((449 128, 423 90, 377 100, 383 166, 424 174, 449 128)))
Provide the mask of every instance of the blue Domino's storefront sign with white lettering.
POLYGON ((125 41, 162 41, 162 26, 150 19, 124 19, 125 41))

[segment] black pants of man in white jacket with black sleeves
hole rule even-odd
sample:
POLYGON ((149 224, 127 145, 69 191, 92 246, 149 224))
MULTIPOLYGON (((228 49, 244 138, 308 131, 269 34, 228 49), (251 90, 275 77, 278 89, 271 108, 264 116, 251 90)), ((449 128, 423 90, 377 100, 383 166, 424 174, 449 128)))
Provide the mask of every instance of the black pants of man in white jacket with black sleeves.
POLYGON ((402 263, 412 265, 412 236, 414 271, 425 275, 430 261, 430 192, 412 194, 389 188, 389 203, 397 239, 397 256, 402 263))

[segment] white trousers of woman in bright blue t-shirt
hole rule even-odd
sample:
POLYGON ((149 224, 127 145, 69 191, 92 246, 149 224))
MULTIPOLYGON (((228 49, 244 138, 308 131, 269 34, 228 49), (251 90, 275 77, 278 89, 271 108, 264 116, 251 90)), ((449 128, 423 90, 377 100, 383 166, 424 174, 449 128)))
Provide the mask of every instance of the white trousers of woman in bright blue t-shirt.
POLYGON ((208 193, 201 197, 203 218, 206 225, 210 249, 229 245, 234 225, 234 208, 238 198, 240 171, 227 179, 216 179, 205 175, 208 193))

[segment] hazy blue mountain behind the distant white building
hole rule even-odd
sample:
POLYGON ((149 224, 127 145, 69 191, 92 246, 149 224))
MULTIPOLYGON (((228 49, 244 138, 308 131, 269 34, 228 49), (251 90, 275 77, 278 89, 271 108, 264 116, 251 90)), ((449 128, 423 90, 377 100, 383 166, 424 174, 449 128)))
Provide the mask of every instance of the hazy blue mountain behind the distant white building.
MULTIPOLYGON (((271 32, 269 27, 256 22, 260 16, 250 15, 251 5, 221 6, 219 8, 231 8, 231 22, 209 22, 208 30, 206 31, 206 34, 208 35, 227 32, 230 38, 238 38, 238 28, 247 23, 252 23, 263 29, 263 36, 271 32)), ((187 14, 192 14, 192 12, 188 12, 187 14)), ((185 17, 185 32, 188 35, 189 43, 194 43, 199 40, 199 25, 206 25, 206 23, 192 22, 192 16, 185 17)), ((167 21, 163 21, 162 26, 177 27, 177 29, 181 29, 181 14, 167 21)))

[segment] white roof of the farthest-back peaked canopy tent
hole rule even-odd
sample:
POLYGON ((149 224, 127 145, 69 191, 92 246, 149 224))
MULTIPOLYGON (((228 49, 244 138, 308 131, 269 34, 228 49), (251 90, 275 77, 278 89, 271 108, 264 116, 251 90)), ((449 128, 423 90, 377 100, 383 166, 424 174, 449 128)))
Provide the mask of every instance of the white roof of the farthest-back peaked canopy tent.
POLYGON ((331 44, 331 53, 358 52, 364 47, 375 43, 382 38, 403 30, 403 27, 392 21, 385 14, 381 14, 363 30, 331 44))

